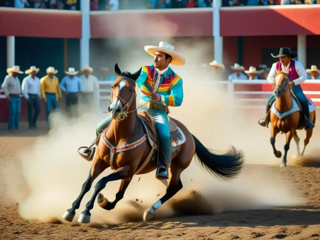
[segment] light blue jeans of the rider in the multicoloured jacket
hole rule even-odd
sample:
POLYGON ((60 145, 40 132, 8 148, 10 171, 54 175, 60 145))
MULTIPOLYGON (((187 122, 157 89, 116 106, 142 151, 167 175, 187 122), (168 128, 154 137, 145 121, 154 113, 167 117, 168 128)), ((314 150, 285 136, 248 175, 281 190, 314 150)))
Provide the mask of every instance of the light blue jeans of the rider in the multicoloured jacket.
MULTIPOLYGON (((152 113, 152 117, 155 121, 156 132, 159 138, 159 145, 164 151, 164 156, 168 161, 168 165, 171 163, 171 135, 169 130, 169 123, 167 113, 164 110, 160 109, 148 109, 147 107, 141 107, 139 110, 146 110, 149 114, 150 111, 152 113)), ((134 113, 132 113, 134 114, 134 113)), ((111 118, 106 117, 96 126, 96 134, 97 136, 103 131, 103 129, 110 124, 111 118)))

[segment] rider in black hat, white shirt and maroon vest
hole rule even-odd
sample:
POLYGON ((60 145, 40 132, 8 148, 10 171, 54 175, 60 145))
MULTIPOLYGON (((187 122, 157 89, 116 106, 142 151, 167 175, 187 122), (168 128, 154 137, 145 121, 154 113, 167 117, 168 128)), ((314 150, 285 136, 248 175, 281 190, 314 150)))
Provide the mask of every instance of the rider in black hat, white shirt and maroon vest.
MULTIPOLYGON (((286 73, 290 80, 289 84, 290 87, 292 87, 292 92, 298 98, 302 111, 305 115, 305 129, 314 128, 314 124, 310 121, 308 99, 302 92, 302 88, 300 86, 300 83, 303 83, 307 79, 307 72, 299 61, 292 60, 292 58, 296 58, 298 55, 291 52, 290 48, 282 47, 280 48, 278 55, 271 54, 271 56, 279 58, 279 61, 272 65, 267 81, 274 84, 274 79, 277 73, 286 73)), ((259 120, 259 124, 261 126, 268 126, 270 116, 269 111, 274 99, 275 95, 272 94, 267 101, 267 115, 259 120)))

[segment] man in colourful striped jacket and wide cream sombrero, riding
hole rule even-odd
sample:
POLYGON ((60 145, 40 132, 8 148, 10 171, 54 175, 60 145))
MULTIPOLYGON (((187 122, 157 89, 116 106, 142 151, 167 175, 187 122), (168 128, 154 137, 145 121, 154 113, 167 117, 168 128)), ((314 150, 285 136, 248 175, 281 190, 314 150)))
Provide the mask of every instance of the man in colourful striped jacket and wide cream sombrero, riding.
MULTIPOLYGON (((159 138, 159 164, 156 172, 158 179, 168 179, 168 167, 171 162, 171 136, 169 130, 168 107, 179 107, 183 100, 182 79, 169 67, 183 66, 185 59, 180 53, 173 51, 173 46, 160 42, 159 46, 145 46, 144 50, 154 57, 154 64, 142 66, 142 71, 136 83, 141 90, 142 107, 153 117, 159 138)), ((96 126, 96 134, 110 124, 111 118, 103 119, 96 126)), ((85 149, 80 153, 86 160, 91 161, 94 151, 85 149)))

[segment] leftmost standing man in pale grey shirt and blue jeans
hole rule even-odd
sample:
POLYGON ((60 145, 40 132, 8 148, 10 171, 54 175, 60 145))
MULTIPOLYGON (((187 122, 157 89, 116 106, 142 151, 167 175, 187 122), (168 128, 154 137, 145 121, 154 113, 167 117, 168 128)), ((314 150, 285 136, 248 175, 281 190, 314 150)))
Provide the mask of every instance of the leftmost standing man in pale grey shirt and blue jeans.
POLYGON ((9 102, 8 130, 12 131, 13 127, 15 127, 16 130, 19 129, 21 84, 18 74, 22 74, 23 72, 20 71, 19 66, 13 66, 7 69, 7 73, 8 75, 5 76, 1 87, 9 102))

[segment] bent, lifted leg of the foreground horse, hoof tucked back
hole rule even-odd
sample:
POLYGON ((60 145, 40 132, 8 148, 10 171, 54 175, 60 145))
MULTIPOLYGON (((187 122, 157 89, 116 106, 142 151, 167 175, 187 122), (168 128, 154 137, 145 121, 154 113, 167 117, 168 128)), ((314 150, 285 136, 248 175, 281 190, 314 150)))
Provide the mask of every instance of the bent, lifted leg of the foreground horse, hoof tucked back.
POLYGON ((119 191, 116 193, 116 199, 113 202, 109 202, 108 198, 104 197, 102 193, 98 194, 97 203, 100 207, 106 210, 114 209, 116 204, 123 198, 124 192, 129 186, 132 177, 121 179, 119 191))

